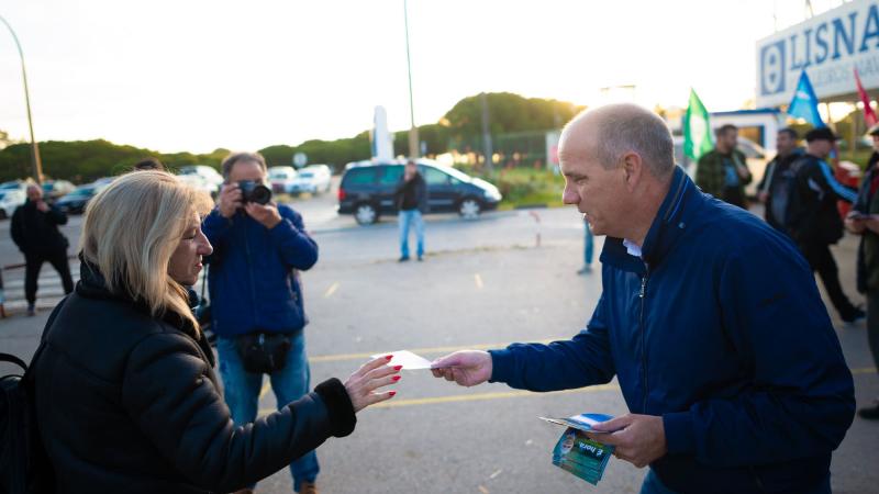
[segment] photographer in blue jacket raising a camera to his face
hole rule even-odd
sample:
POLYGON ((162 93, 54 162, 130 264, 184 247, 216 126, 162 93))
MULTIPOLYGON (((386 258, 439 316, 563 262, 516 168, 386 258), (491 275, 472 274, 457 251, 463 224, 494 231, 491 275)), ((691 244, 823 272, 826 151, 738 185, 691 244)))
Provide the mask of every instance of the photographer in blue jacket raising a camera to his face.
MULTIPOLYGON (((222 168, 225 184, 203 223, 214 246, 208 260, 211 323, 225 401, 235 424, 244 425, 256 419, 263 374, 269 375, 278 406, 309 391, 302 332, 308 319, 296 270, 314 266, 318 245, 299 213, 270 202, 263 156, 235 153, 222 168)), ((293 461, 290 471, 297 492, 316 492, 314 451, 293 461)))

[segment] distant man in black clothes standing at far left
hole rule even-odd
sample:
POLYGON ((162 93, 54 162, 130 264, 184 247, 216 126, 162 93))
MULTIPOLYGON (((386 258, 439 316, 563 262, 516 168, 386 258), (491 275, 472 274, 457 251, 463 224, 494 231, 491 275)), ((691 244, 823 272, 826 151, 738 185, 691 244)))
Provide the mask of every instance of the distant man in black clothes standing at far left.
POLYGON ((36 280, 43 262, 48 261, 62 278, 64 293, 74 291, 70 265, 67 262, 67 238, 58 225, 67 224, 67 215, 43 200, 40 186, 27 187, 27 200, 12 214, 12 240, 24 254, 24 297, 27 315, 36 314, 36 280))

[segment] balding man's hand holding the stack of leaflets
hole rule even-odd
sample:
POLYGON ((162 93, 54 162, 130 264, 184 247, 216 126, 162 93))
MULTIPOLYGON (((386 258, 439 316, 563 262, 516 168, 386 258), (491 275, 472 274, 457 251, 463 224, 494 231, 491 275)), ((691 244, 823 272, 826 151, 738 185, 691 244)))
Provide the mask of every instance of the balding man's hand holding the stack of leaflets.
POLYGON ((586 434, 602 445, 615 446, 613 456, 639 469, 663 458, 668 451, 663 417, 656 415, 626 414, 597 424, 592 428, 615 430, 612 434, 586 434))

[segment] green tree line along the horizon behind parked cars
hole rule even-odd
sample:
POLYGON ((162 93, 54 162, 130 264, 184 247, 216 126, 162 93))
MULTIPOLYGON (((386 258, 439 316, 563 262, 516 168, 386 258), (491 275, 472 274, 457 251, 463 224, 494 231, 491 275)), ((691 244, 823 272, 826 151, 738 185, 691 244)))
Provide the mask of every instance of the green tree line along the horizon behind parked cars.
MULTIPOLYGON (((582 106, 564 101, 524 98, 510 92, 487 93, 485 103, 492 136, 558 128, 582 110, 582 106)), ((425 154, 430 156, 475 147, 476 143, 481 142, 482 114, 482 97, 477 94, 458 101, 437 123, 419 126, 419 137, 426 147, 425 154)), ((407 133, 394 133, 394 150, 398 154, 408 150, 407 133)), ((311 139, 296 146, 279 144, 258 150, 269 166, 289 166, 293 154, 304 153, 309 162, 324 162, 341 170, 346 162, 370 157, 369 133, 365 131, 354 137, 335 141, 311 139)), ((218 148, 208 154, 166 154, 94 139, 42 142, 40 154, 46 177, 85 183, 127 171, 147 156, 160 159, 173 170, 187 165, 208 165, 219 169, 229 150, 218 148)), ((29 177, 31 170, 30 144, 12 144, 0 150, 0 181, 29 177)))

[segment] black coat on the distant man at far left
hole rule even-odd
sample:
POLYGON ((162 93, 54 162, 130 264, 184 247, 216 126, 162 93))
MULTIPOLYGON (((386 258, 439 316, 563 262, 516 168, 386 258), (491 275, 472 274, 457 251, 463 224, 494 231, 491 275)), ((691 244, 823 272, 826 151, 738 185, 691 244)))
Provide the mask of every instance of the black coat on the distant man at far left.
POLYGON ((44 213, 27 200, 12 213, 10 233, 12 242, 24 254, 57 255, 67 250, 69 243, 58 225, 67 224, 67 215, 57 207, 44 213))

